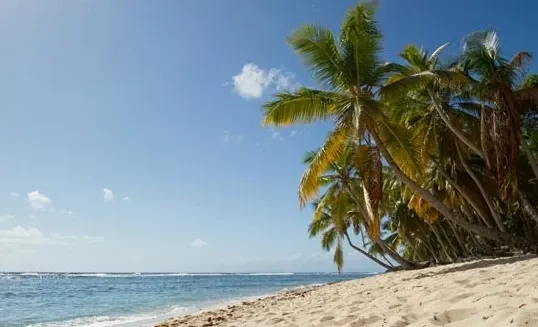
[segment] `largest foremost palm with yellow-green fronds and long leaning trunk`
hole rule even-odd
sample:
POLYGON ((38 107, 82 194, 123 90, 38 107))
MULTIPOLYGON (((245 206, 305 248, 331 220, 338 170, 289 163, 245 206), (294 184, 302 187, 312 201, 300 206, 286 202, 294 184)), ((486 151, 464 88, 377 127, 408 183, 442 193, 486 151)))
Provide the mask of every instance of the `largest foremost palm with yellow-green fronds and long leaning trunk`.
MULTIPOLYGON (((468 221, 421 186, 420 144, 405 128, 388 119, 385 103, 377 95, 393 67, 381 63, 382 35, 374 21, 374 12, 375 8, 368 4, 351 9, 344 18, 338 40, 330 30, 314 25, 299 28, 289 38, 295 52, 323 88, 277 93, 275 99, 263 107, 264 124, 285 126, 326 119, 334 122, 334 129, 301 180, 301 204, 316 195, 316 181, 330 162, 339 157, 347 142, 371 138, 371 144, 397 178, 446 219, 482 237, 514 242, 510 234, 468 221)), ((370 158, 358 157, 357 160, 370 158)), ((371 220, 379 214, 379 202, 369 194, 376 186, 368 183, 376 181, 370 178, 363 187, 371 220)))

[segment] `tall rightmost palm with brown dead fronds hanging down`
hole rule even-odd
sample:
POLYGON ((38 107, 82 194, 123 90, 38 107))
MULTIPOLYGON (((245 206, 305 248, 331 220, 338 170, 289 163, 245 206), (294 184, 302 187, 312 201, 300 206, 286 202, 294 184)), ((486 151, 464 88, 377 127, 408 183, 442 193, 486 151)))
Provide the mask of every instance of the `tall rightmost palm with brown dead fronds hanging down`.
POLYGON ((491 140, 493 149, 483 152, 485 156, 494 153, 497 177, 506 196, 517 194, 518 189, 522 110, 525 103, 538 99, 537 87, 522 84, 531 58, 528 52, 504 58, 497 34, 484 31, 465 38, 459 62, 459 69, 470 81, 469 100, 483 106, 481 118, 490 122, 482 126, 482 133, 491 140))

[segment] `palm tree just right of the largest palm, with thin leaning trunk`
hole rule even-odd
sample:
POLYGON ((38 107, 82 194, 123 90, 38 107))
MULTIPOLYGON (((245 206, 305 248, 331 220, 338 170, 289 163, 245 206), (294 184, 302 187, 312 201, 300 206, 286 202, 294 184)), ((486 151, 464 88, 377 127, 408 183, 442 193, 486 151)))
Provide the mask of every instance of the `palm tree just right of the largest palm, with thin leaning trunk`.
MULTIPOLYGON (((399 105, 399 103, 392 107, 398 111, 396 113, 397 115, 402 115, 400 112, 403 112, 403 115, 405 116, 409 116, 410 114, 413 116, 417 111, 417 108, 419 110, 422 109, 421 117, 415 119, 415 126, 412 127, 418 131, 427 131, 427 133, 424 134, 424 137, 428 138, 426 142, 428 142, 429 145, 433 145, 433 149, 438 151, 438 153, 433 154, 434 156, 440 159, 450 158, 450 155, 447 155, 448 149, 450 149, 450 152, 458 154, 458 163, 461 164, 478 187, 497 228, 500 231, 505 232, 506 229, 503 225, 501 215, 493 203, 494 199, 492 199, 491 194, 486 191, 477 174, 467 164, 466 157, 464 158, 462 155, 463 152, 466 152, 466 149, 462 149, 460 143, 464 144, 466 148, 471 149, 474 154, 484 159, 483 151, 477 144, 471 141, 471 139, 479 138, 479 134, 472 134, 472 132, 477 130, 480 126, 479 120, 460 109, 454 108, 453 105, 456 94, 450 89, 450 84, 455 83, 462 85, 462 81, 467 82, 469 80, 466 75, 461 72, 451 71, 448 67, 443 67, 439 64, 439 54, 447 45, 448 44, 445 44, 439 47, 430 56, 427 51, 418 49, 414 45, 407 46, 400 54, 405 61, 405 65, 398 65, 398 72, 393 74, 387 85, 383 87, 383 95, 388 96, 389 98, 401 98, 400 101, 404 103, 409 103, 410 100, 414 100, 414 102, 412 102, 414 110, 412 111, 409 111, 407 106, 399 105), (426 121, 426 125, 424 124, 424 121, 426 121), (462 128, 462 126, 465 126, 466 128, 462 128), (446 133, 447 131, 449 133, 446 133), (437 132, 438 135, 431 135, 435 132, 437 132), (447 140, 450 143, 449 146, 446 147, 446 141, 445 144, 443 144, 443 147, 439 146, 440 142, 437 142, 438 144, 432 144, 440 138, 447 140)), ((409 120, 409 118, 407 118, 407 120, 409 120)), ((431 147, 428 147, 428 149, 431 149, 431 147)), ((476 207, 476 205, 474 205, 474 207, 476 207)))

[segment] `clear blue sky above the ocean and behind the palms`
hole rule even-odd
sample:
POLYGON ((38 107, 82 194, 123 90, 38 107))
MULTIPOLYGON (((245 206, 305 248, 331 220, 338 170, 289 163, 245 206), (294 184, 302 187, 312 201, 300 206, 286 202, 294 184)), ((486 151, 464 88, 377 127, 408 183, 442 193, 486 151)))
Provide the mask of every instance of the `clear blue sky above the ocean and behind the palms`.
MULTIPOLYGON (((260 105, 315 86, 287 35, 354 3, 0 2, 0 270, 334 271, 296 194, 327 126, 260 105)), ((484 28, 536 53, 536 4, 484 3, 382 1, 386 59, 484 28)))

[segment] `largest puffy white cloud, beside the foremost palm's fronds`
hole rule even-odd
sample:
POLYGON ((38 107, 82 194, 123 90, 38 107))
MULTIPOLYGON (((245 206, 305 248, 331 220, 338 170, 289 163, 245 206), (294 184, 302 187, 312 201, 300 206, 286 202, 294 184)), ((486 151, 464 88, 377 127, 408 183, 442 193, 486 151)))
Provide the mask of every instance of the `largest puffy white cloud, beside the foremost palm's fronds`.
POLYGON ((277 68, 263 69, 254 63, 244 65, 241 72, 232 77, 235 91, 244 99, 260 98, 269 87, 289 88, 295 85, 294 79, 293 73, 277 68))

